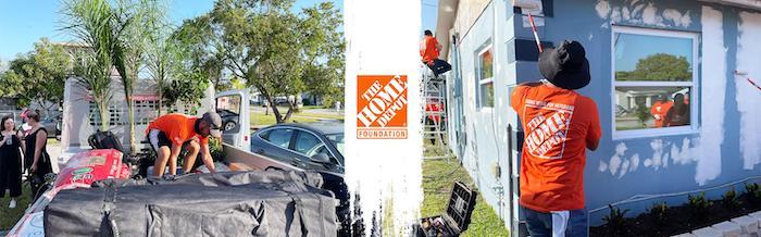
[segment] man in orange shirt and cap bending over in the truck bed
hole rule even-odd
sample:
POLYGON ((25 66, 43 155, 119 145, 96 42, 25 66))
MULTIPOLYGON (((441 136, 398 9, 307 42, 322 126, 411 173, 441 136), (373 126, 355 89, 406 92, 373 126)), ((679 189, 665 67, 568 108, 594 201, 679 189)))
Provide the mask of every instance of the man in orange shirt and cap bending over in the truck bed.
POLYGON ((148 141, 157 152, 153 176, 162 176, 169 162, 170 174, 177 173, 177 157, 182 148, 188 152, 184 158, 183 171, 190 172, 198 152, 211 173, 216 173, 209 151, 209 136, 222 136, 222 117, 215 112, 207 112, 202 117, 171 113, 155 118, 148 125, 148 141))

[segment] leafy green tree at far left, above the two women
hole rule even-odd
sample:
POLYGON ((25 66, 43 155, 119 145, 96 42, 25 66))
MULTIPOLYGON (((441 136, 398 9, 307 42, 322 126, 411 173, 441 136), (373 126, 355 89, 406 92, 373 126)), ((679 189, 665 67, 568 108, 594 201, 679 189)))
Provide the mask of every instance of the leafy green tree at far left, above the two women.
POLYGON ((0 92, 16 97, 18 107, 30 102, 50 110, 53 101, 63 100, 63 87, 72 65, 63 47, 41 38, 35 50, 11 61, 0 79, 0 92))

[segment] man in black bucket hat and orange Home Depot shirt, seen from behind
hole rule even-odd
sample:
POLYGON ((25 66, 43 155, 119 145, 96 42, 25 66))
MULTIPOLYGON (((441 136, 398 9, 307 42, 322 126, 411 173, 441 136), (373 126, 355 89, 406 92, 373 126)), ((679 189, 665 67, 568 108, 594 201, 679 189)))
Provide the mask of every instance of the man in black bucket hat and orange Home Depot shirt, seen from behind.
POLYGON ((525 132, 519 203, 531 236, 587 236, 586 149, 600 136, 597 104, 574 91, 589 84, 584 47, 562 41, 539 55, 546 78, 519 85, 510 104, 525 132))

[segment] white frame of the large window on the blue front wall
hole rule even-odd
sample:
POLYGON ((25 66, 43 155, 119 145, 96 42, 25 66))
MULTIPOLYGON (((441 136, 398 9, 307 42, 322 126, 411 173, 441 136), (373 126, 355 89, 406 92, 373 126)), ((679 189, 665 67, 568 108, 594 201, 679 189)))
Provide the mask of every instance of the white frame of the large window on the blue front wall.
POLYGON ((612 26, 610 36, 610 117, 611 117, 611 133, 613 140, 631 139, 631 138, 646 138, 646 137, 658 137, 658 136, 672 136, 672 135, 689 135, 699 133, 700 125, 699 114, 700 107, 700 78, 699 71, 702 68, 702 64, 699 58, 700 50, 700 33, 673 30, 673 29, 654 29, 654 28, 640 28, 632 26, 612 26), (643 36, 658 36, 658 37, 671 37, 671 38, 684 38, 693 40, 693 79, 691 82, 648 82, 648 80, 628 80, 628 82, 616 82, 615 80, 615 35, 616 34, 631 34, 631 35, 643 35, 643 36), (615 127, 615 107, 616 87, 688 87, 689 88, 689 112, 690 121, 689 126, 678 126, 678 127, 660 127, 660 128, 641 128, 641 129, 631 129, 631 130, 617 130, 615 127))

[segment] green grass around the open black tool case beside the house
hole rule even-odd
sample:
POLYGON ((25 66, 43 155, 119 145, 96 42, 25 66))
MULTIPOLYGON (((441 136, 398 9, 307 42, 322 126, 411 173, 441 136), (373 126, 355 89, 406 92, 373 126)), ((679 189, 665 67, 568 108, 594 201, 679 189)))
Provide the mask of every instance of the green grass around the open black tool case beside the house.
MULTIPOLYGON (((456 159, 439 159, 423 161, 423 204, 422 216, 434 216, 445 213, 454 180, 460 180, 471 188, 473 180, 456 159)), ((476 192, 478 190, 476 189, 476 192)), ((486 204, 484 198, 478 195, 475 209, 471 216, 467 230, 462 233, 467 236, 509 236, 504 223, 497 213, 486 204)))

